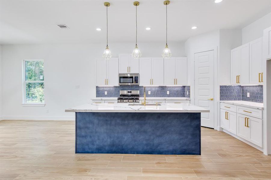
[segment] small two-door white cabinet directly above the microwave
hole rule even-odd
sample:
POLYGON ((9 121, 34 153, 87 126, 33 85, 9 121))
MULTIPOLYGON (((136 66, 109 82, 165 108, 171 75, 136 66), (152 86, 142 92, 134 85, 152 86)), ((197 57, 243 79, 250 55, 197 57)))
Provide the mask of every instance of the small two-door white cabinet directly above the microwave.
POLYGON ((139 73, 139 59, 131 54, 119 54, 119 73, 139 73))

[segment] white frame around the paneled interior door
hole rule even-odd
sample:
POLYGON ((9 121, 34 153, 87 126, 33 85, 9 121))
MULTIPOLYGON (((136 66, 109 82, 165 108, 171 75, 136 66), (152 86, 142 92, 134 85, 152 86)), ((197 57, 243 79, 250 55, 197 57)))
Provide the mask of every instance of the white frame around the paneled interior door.
POLYGON ((190 99, 191 104, 195 104, 195 53, 199 52, 206 52, 206 51, 214 51, 214 129, 218 131, 222 131, 222 128, 220 128, 220 86, 218 84, 218 67, 219 67, 219 61, 218 61, 218 54, 217 54, 217 46, 213 47, 207 47, 207 48, 200 48, 200 49, 194 49, 191 51, 190 57, 192 61, 190 61, 190 82, 191 82, 191 91, 193 93, 190 93, 190 99), (219 108, 218 108, 219 107, 219 108), (219 111, 219 112, 218 112, 219 111), (218 119, 219 118, 219 119, 218 119))

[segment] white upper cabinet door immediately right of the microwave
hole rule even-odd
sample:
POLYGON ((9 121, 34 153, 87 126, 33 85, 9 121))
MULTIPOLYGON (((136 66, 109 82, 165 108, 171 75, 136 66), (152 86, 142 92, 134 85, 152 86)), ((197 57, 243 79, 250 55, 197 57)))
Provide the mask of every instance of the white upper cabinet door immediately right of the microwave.
POLYGON ((139 84, 141 86, 152 84, 152 58, 140 58, 139 74, 139 84))

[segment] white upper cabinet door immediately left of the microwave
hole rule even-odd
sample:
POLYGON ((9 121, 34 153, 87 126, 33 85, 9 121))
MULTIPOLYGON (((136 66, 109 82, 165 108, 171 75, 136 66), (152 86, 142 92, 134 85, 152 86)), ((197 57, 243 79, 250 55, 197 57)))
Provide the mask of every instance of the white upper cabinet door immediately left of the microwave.
POLYGON ((119 58, 111 58, 107 60, 106 85, 119 85, 119 58))

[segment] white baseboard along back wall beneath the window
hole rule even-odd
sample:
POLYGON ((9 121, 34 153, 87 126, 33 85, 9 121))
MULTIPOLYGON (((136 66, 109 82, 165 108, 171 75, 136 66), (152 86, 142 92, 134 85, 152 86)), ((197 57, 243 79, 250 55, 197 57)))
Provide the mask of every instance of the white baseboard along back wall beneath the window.
POLYGON ((61 120, 74 121, 75 116, 2 116, 1 120, 61 120))

